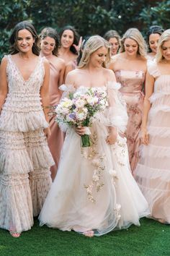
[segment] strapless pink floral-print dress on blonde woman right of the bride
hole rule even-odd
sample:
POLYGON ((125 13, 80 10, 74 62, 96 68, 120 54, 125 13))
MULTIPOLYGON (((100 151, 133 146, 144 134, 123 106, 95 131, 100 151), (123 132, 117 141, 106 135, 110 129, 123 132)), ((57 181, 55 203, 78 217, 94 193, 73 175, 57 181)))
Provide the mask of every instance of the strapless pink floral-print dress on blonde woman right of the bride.
POLYGON ((130 168, 133 173, 138 163, 138 148, 140 145, 140 126, 142 123, 143 112, 143 83, 145 81, 145 72, 117 70, 115 72, 117 82, 122 87, 120 92, 127 104, 128 126, 125 132, 127 137, 130 168))

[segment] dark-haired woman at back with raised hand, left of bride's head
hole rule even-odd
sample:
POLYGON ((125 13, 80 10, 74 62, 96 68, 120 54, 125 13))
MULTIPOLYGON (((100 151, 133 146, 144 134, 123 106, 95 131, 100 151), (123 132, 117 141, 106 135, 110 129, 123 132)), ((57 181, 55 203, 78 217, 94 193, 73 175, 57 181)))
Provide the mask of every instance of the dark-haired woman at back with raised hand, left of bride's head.
POLYGON ((79 34, 72 26, 63 27, 60 32, 61 42, 58 48, 58 56, 65 61, 75 61, 79 51, 79 34))

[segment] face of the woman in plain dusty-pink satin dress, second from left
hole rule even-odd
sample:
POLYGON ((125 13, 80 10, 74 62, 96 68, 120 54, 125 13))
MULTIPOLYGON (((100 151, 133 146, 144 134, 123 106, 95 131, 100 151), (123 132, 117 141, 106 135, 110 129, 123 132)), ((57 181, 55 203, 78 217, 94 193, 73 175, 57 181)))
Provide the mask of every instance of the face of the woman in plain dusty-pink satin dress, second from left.
POLYGON ((52 54, 55 48, 55 39, 47 36, 46 38, 41 40, 40 48, 41 48, 42 54, 44 54, 45 56, 52 54))

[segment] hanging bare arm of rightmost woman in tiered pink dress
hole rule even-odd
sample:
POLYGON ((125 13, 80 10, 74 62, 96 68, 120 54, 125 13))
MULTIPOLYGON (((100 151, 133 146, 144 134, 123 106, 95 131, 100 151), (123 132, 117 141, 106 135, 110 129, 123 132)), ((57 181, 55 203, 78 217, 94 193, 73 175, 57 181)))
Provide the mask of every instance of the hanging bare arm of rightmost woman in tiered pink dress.
POLYGON ((151 103, 149 98, 151 97, 154 89, 154 82, 155 79, 151 74, 148 72, 146 73, 146 95, 144 98, 144 105, 143 105, 143 119, 141 125, 141 132, 142 132, 142 142, 145 145, 148 145, 148 134, 147 134, 147 122, 148 122, 148 112, 151 108, 151 103))

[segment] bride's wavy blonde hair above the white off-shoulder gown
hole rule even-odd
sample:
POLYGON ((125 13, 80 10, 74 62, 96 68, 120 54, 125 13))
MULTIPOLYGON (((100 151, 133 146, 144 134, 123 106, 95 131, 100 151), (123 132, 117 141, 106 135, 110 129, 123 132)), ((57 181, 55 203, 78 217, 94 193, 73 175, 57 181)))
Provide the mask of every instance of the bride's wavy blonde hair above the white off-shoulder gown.
POLYGON ((85 43, 83 54, 79 63, 79 68, 86 67, 87 64, 89 64, 90 56, 94 53, 94 51, 97 51, 99 48, 105 47, 107 48, 107 58, 102 64, 103 67, 107 67, 107 63, 110 61, 111 56, 111 46, 107 40, 102 38, 99 35, 93 35, 91 36, 85 43))

